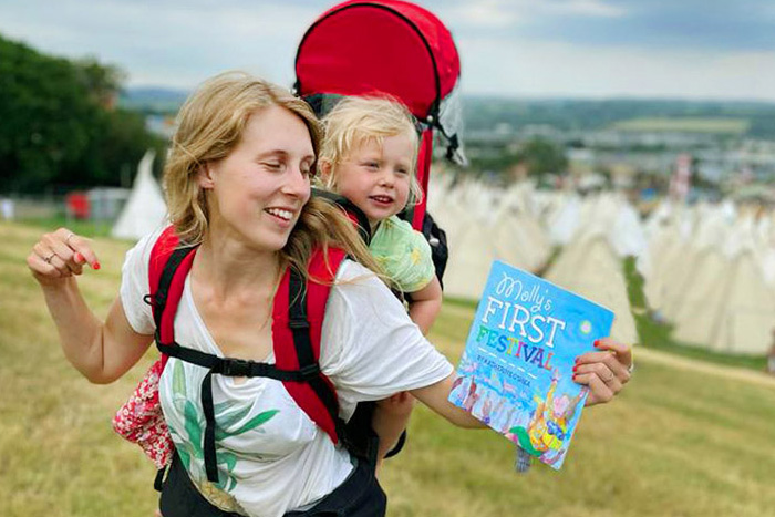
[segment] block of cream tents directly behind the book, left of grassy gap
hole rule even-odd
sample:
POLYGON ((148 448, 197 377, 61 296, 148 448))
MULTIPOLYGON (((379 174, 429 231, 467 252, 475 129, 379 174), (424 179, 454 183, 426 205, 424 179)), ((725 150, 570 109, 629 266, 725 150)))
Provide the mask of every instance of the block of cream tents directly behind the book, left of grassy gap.
POLYGON ((634 210, 620 196, 582 199, 528 182, 504 189, 437 175, 428 210, 447 231, 445 296, 478 298, 493 260, 503 260, 608 307, 617 316, 611 335, 638 341, 620 254, 644 244, 634 210))

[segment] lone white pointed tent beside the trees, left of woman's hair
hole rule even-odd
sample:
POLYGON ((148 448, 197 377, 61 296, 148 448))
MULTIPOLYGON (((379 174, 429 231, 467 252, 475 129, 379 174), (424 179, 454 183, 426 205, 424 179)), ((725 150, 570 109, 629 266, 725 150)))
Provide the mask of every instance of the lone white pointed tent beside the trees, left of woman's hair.
POLYGON ((156 153, 147 151, 137 166, 137 177, 130 198, 113 225, 111 235, 118 239, 136 240, 158 228, 167 216, 162 189, 154 179, 152 165, 156 153))

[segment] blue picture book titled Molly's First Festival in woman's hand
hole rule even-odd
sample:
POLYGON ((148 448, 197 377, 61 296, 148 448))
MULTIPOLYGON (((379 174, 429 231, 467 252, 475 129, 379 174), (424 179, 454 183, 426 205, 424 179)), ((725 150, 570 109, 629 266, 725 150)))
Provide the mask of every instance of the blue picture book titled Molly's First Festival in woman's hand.
POLYGON ((495 261, 450 401, 559 469, 587 400, 574 363, 612 323, 604 307, 495 261))

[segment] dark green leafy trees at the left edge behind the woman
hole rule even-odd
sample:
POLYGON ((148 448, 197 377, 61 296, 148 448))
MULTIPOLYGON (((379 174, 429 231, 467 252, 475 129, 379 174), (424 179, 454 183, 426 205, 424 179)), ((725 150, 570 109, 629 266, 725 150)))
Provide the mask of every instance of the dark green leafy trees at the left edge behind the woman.
POLYGON ((112 108, 122 77, 0 37, 0 190, 118 185, 121 164, 161 151, 142 117, 112 108))

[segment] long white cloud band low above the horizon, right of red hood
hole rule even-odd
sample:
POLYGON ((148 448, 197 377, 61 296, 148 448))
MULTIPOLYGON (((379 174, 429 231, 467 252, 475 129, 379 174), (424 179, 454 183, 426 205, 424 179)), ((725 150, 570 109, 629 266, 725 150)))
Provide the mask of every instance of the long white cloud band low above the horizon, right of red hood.
POLYGON ((719 54, 700 51, 600 49, 499 40, 461 43, 487 53, 497 66, 463 60, 463 91, 519 96, 647 96, 775 100, 775 51, 719 54), (487 77, 480 81, 480 77, 487 77))

